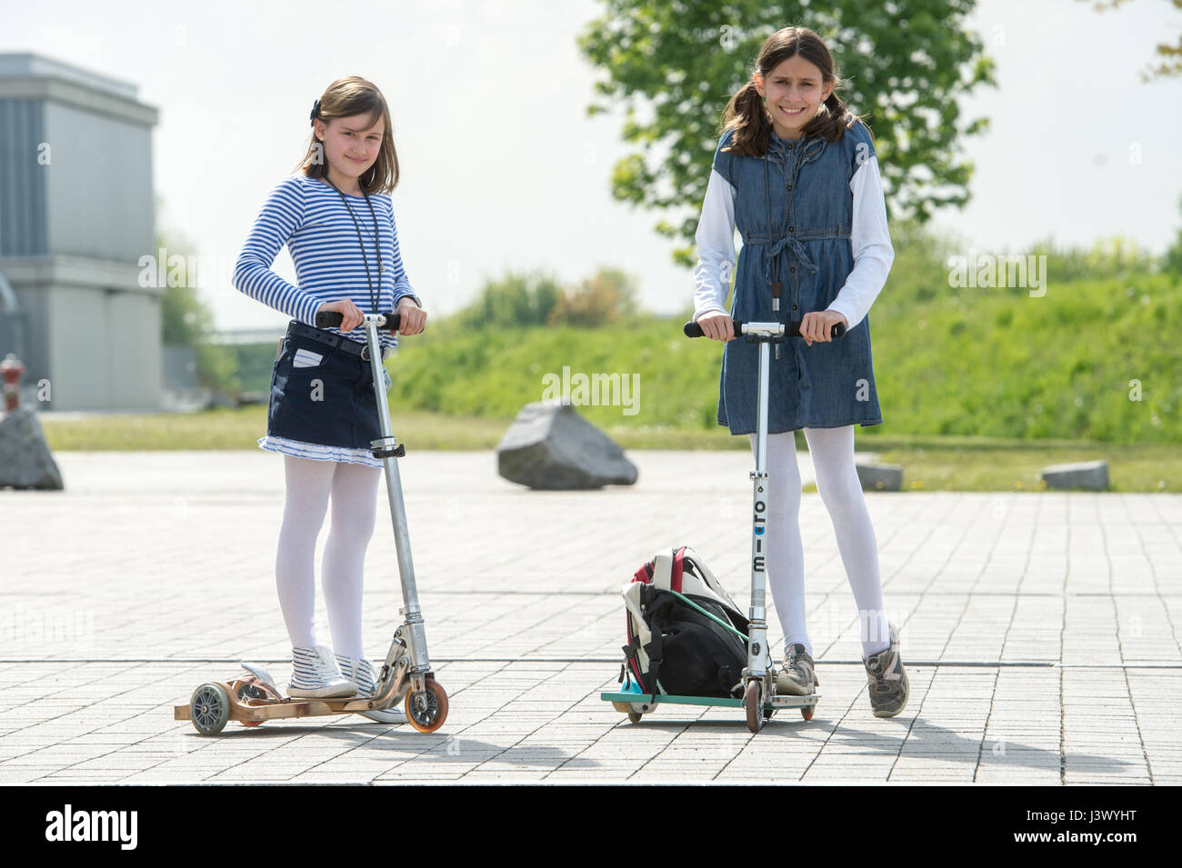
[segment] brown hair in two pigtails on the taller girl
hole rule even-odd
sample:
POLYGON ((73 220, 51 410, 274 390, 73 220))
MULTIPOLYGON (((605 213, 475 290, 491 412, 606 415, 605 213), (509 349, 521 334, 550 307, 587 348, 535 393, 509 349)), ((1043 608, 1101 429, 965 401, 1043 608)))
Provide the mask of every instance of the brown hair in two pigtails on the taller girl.
MULTIPOLYGON (((785 27, 769 35, 764 41, 764 47, 759 50, 755 70, 766 79, 772 74, 772 70, 798 54, 820 70, 821 85, 833 84, 833 90, 824 103, 825 110, 818 111, 817 116, 805 124, 804 138, 818 136, 826 142, 837 142, 855 120, 865 124, 862 117, 852 115, 837 96, 840 81, 833 70, 833 56, 829 53, 820 37, 807 27, 785 27)), ((723 132, 734 130, 730 145, 723 150, 745 157, 761 157, 767 152, 772 118, 764 107, 764 98, 755 90, 754 81, 748 81, 730 97, 722 115, 722 130, 723 132)))

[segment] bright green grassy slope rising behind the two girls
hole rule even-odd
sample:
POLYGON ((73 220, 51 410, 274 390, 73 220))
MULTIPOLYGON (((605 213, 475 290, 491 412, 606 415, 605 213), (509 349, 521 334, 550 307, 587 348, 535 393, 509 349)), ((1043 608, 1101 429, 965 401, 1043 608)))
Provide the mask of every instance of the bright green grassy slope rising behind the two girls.
MULTIPOLYGON (((1136 275, 1052 283, 1041 298, 1028 292, 937 286, 909 295, 888 282, 870 314, 886 430, 1182 442, 1182 283, 1136 275)), ((465 332, 450 325, 404 341, 391 363, 395 406, 511 418, 567 371, 619 374, 630 384, 626 398, 580 407, 600 428, 716 428, 722 347, 686 340, 676 318, 585 329, 465 332), (635 415, 622 415, 622 406, 635 415)), ((883 433, 865 429, 864 437, 883 433)))

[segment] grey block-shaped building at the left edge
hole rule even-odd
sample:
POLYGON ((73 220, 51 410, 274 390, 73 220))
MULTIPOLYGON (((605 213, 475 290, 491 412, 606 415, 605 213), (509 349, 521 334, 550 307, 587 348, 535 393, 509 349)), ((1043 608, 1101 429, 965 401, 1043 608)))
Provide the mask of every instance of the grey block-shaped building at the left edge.
POLYGON ((0 358, 24 347, 41 410, 161 405, 163 289, 139 276, 156 254, 158 112, 137 90, 0 53, 0 358))

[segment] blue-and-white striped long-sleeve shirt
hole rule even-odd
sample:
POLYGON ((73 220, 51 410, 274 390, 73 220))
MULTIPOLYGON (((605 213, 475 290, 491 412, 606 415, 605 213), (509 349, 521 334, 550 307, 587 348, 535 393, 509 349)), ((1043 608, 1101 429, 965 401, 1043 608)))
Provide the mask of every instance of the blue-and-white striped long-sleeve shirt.
MULTIPOLYGON (((351 299, 363 313, 394 311, 404 295, 420 304, 402 267, 390 197, 377 194, 370 196, 370 202, 377 215, 376 234, 374 215, 364 196, 345 194, 345 202, 342 202, 340 194, 319 178, 304 174, 284 178, 271 191, 242 244, 234 267, 235 288, 310 326, 316 325, 316 311, 324 302, 351 299), (358 226, 361 242, 357 240, 358 226), (378 241, 385 263, 382 274, 378 274, 378 241), (284 244, 296 262, 299 286, 292 286, 271 270, 284 244), (366 259, 377 311, 365 279, 366 259)), ((357 327, 345 337, 364 344, 365 329, 357 327)), ((383 347, 397 345, 390 332, 381 332, 381 339, 383 347)))

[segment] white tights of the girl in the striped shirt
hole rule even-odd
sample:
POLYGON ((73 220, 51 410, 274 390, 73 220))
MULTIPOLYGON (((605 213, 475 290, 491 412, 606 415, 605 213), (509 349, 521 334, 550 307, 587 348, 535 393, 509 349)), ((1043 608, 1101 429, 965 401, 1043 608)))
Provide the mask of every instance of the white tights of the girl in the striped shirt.
POLYGON ((332 651, 362 653, 362 570, 377 518, 381 468, 284 456, 287 496, 275 555, 275 586, 293 648, 318 642, 316 614, 316 540, 332 495, 332 524, 320 560, 320 583, 332 632, 332 651))

